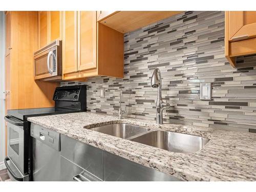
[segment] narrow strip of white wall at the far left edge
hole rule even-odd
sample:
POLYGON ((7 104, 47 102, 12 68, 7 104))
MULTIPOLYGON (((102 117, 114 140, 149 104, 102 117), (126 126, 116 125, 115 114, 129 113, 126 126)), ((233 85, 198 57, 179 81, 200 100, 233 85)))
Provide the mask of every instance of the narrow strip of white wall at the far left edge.
POLYGON ((5 158, 5 14, 0 11, 0 170, 5 158))

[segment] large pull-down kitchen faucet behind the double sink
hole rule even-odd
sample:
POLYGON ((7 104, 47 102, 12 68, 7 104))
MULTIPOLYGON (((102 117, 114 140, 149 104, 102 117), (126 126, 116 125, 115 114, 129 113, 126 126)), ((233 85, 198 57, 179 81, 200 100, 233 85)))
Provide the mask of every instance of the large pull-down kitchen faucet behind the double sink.
POLYGON ((157 102, 156 102, 156 110, 157 110, 156 123, 163 124, 163 110, 169 109, 170 104, 163 102, 162 100, 162 80, 161 80, 161 73, 158 68, 154 70, 154 73, 152 75, 151 87, 158 88, 157 102))

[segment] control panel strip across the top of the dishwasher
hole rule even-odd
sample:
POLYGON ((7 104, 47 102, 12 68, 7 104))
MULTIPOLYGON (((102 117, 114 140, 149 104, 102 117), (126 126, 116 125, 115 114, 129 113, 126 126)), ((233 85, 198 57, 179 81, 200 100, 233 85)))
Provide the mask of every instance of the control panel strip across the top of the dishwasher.
POLYGON ((60 134, 46 127, 31 123, 30 136, 60 151, 60 134))

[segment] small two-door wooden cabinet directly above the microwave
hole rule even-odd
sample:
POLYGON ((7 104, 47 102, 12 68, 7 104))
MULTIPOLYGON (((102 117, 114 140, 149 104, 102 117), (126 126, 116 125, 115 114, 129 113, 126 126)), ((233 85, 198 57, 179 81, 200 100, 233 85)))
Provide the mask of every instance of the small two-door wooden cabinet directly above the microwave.
POLYGON ((61 40, 61 11, 38 11, 38 29, 39 48, 61 40))

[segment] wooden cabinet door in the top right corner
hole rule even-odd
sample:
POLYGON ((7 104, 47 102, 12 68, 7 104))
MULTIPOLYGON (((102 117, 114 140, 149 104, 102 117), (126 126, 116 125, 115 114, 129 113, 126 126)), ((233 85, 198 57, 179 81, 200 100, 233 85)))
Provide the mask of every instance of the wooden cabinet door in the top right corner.
POLYGON ((229 11, 229 41, 256 37, 256 11, 229 11))

